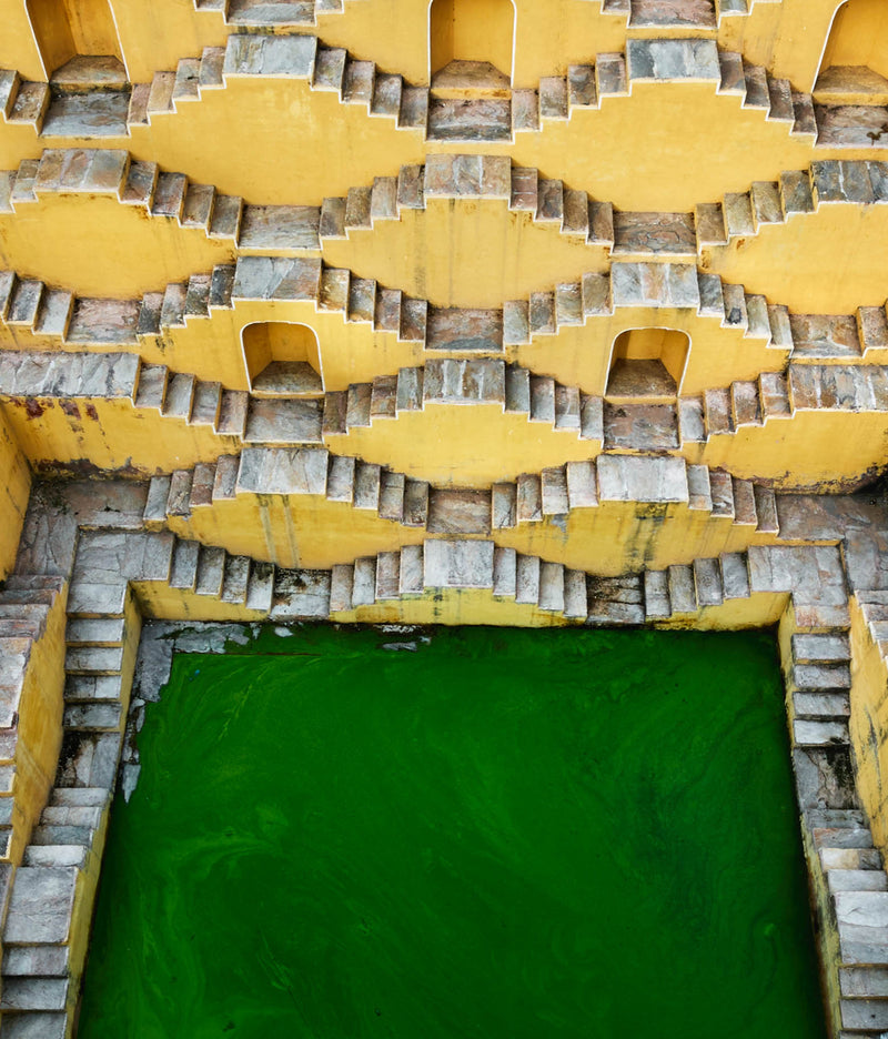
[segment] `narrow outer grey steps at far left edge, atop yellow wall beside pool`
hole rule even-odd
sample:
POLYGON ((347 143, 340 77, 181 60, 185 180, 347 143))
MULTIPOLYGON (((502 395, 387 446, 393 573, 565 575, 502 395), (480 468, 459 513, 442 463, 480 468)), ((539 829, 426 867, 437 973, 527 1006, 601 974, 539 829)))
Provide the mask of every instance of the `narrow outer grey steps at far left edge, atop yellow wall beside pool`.
POLYGON ((14 804, 16 756, 33 755, 37 749, 19 747, 24 677, 31 648, 46 633, 50 609, 63 586, 60 577, 11 574, 0 592, 0 863, 10 861, 13 829, 27 825, 14 804))

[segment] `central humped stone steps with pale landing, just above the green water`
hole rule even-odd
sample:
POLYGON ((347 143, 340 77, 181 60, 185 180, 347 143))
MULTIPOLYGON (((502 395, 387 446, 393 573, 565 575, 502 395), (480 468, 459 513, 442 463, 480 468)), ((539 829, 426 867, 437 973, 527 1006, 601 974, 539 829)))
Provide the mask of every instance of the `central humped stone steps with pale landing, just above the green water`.
POLYGON ((462 539, 427 541, 334 566, 330 613, 347 613, 442 588, 483 588, 497 598, 574 621, 585 621, 588 614, 586 575, 582 571, 519 555, 493 542, 462 539))

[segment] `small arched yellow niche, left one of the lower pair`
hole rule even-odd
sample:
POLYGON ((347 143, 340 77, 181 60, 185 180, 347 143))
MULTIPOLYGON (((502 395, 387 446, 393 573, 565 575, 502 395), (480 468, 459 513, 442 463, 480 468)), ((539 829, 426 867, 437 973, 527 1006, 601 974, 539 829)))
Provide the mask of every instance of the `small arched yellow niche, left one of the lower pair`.
POLYGON ((259 321, 241 332, 250 390, 258 396, 324 392, 317 336, 307 325, 259 321))

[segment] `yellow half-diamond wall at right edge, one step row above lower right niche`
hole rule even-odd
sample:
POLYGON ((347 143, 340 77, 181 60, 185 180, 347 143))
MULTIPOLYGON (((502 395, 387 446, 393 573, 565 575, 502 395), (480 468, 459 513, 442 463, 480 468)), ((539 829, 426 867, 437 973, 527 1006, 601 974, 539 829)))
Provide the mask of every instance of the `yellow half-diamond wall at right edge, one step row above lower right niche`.
POLYGON ((816 213, 706 250, 703 263, 794 313, 852 314, 888 297, 887 235, 887 205, 821 203, 816 213))

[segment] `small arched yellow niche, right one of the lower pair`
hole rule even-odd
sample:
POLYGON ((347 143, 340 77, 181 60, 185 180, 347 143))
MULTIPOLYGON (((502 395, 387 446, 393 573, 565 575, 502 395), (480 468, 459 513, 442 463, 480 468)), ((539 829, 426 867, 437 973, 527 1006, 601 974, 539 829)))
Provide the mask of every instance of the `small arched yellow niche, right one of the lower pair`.
POLYGON ((690 340, 674 329, 629 329, 614 340, 608 397, 674 401, 682 386, 690 340))

